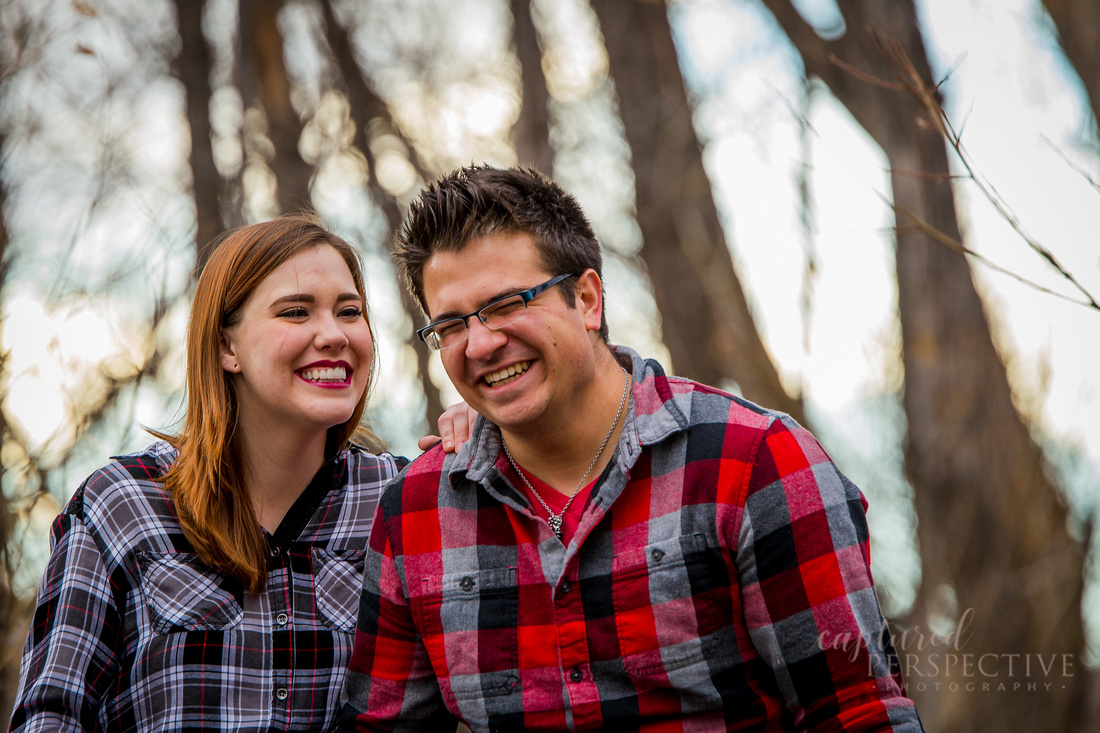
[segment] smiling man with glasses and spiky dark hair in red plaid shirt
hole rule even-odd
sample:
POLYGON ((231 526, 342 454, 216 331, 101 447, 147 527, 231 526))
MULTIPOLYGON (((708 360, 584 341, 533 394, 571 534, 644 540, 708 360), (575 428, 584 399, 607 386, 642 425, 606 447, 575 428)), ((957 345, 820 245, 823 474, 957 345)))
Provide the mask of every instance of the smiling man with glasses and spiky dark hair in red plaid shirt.
POLYGON ((571 196, 457 171, 396 258, 484 417, 381 500, 349 730, 921 730, 861 493, 787 415, 608 344, 571 196))

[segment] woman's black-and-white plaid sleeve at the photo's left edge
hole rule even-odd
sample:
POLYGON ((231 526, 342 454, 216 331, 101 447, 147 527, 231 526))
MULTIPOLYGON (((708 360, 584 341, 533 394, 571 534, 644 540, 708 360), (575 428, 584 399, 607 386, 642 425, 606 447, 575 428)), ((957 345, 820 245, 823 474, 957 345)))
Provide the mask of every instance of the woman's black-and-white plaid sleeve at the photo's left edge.
POLYGON ((12 731, 98 730, 118 683, 121 623, 99 547, 84 522, 62 514, 20 664, 12 731))

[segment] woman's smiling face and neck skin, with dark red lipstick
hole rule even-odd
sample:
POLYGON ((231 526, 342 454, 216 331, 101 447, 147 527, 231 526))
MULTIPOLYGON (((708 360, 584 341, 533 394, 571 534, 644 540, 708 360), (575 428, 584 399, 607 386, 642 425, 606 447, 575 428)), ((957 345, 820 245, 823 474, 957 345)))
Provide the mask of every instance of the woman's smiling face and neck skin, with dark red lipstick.
MULTIPOLYGON (((327 243, 304 249, 224 317, 221 365, 231 374, 245 455, 297 447, 316 457, 307 464, 319 463, 326 430, 362 411, 374 349, 362 278, 348 258, 327 243)), ((257 507, 271 530, 296 495, 294 484, 285 489, 283 497, 267 492, 257 507), (268 523, 272 500, 278 506, 268 523)))

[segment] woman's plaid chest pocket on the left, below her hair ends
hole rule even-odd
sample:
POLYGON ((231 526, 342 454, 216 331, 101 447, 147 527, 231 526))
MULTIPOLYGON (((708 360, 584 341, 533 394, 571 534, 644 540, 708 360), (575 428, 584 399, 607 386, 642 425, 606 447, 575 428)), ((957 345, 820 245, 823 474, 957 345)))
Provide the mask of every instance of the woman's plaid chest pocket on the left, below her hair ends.
POLYGON ((160 634, 230 628, 241 623, 240 583, 190 553, 142 553, 141 588, 160 634))

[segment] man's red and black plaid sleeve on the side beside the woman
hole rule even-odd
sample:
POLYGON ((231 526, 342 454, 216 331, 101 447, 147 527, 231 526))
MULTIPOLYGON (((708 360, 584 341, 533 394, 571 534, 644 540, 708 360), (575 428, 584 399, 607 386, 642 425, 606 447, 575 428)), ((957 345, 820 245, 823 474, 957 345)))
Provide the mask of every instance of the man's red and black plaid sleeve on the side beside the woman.
MULTIPOLYGON (((399 492, 392 492, 389 496, 399 492)), ((363 592, 341 698, 341 731, 454 730, 428 652, 413 623, 380 503, 363 568, 363 592), (449 726, 449 727, 448 727, 449 726)), ((400 523, 398 514, 389 522, 400 523)))

